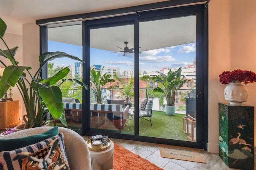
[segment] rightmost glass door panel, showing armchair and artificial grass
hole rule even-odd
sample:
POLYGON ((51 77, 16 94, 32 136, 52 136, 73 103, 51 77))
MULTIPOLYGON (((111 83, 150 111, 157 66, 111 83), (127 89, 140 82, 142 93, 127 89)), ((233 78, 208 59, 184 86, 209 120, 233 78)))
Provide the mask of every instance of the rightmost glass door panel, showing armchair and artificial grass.
POLYGON ((146 131, 141 135, 196 141, 196 16, 153 18, 139 27, 139 127, 146 131), (179 68, 186 82, 167 81, 168 72, 179 68), (176 92, 174 85, 179 85, 176 92))

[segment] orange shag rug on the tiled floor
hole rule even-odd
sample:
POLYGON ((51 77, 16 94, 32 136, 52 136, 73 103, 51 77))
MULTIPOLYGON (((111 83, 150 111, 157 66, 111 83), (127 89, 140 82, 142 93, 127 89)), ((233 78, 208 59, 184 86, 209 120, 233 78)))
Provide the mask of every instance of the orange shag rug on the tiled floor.
POLYGON ((163 170, 114 142, 114 170, 163 170))

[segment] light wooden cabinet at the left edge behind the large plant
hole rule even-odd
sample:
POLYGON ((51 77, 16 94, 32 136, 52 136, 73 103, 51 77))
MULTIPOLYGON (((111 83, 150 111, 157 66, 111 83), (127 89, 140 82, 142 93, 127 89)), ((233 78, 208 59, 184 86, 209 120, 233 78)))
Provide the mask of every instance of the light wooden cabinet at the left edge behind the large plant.
POLYGON ((0 102, 0 129, 19 124, 19 101, 0 102))

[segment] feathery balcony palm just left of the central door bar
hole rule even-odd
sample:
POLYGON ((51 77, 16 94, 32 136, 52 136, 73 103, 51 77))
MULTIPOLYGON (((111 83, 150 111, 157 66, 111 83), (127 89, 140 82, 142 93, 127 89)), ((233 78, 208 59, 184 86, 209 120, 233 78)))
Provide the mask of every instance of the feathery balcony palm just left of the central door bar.
POLYGON ((129 101, 134 97, 134 79, 130 77, 130 80, 128 81, 128 78, 124 77, 124 75, 121 77, 113 75, 113 77, 118 81, 118 83, 110 86, 110 89, 120 91, 124 99, 124 105, 129 105, 129 107, 132 107, 132 103, 129 101))

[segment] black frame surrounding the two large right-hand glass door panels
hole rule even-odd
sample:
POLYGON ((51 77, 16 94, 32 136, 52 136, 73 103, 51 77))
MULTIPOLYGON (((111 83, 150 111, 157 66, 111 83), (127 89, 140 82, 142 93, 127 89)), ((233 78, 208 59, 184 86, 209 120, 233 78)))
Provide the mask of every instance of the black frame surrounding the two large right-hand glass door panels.
MULTIPOLYGON (((176 18, 176 17, 182 17, 182 16, 196 16, 196 62, 197 64, 197 88, 196 88, 196 94, 198 96, 197 98, 197 123, 196 123, 196 140, 197 142, 188 142, 188 141, 177 141, 177 140, 171 140, 171 139, 163 139, 163 138, 154 138, 154 137, 148 137, 148 136, 140 136, 139 135, 139 122, 138 122, 138 114, 135 115, 135 133, 134 135, 128 135, 128 134, 114 134, 114 133, 108 133, 104 131, 104 134, 112 137, 112 138, 123 138, 123 139, 132 139, 132 140, 138 140, 138 141, 146 141, 146 142, 155 142, 155 143, 163 143, 163 144, 174 144, 174 145, 182 145, 182 146, 190 146, 195 148, 205 148, 203 144, 206 142, 204 141, 204 133, 207 128, 204 127, 204 101, 202 100, 203 94, 204 94, 204 84, 200 84, 199 82, 204 82, 204 75, 202 74, 202 70, 204 69, 204 20, 203 20, 203 12, 199 9, 203 9, 204 6, 190 6, 190 7, 180 7, 180 8, 172 8, 172 9, 164 9, 164 10, 154 10, 154 11, 146 11, 146 12, 138 12, 137 14, 132 14, 128 16, 119 16, 115 18, 104 18, 99 20, 90 20, 90 21, 84 21, 83 22, 83 30, 85 31, 85 68, 84 70, 90 71, 90 30, 94 28, 106 28, 106 27, 113 27, 113 26, 123 26, 127 24, 134 24, 134 47, 135 47, 135 53, 134 53, 134 81, 135 81, 135 108, 138 108, 138 91, 139 91, 139 23, 141 21, 150 21, 150 20, 158 20, 158 19, 166 19, 166 18, 176 18), (182 12, 181 12, 182 11, 182 12), (186 12, 184 12, 186 11, 186 12), (200 73, 200 74, 199 74, 200 73)), ((85 83, 90 83, 90 77, 88 77, 86 74, 85 83)), ((89 96, 89 91, 85 91, 84 95, 86 97, 89 96)), ((86 98, 86 101, 89 101, 89 98, 86 98)), ((100 131, 92 131, 90 130, 89 123, 89 103, 85 106, 85 111, 88 113, 86 115, 87 120, 85 122, 86 129, 83 134, 85 135, 95 135, 98 134, 100 131)), ((136 111, 135 111, 136 112, 136 111)), ((138 111, 137 111, 138 112, 138 111)), ((102 131, 103 132, 103 131, 102 131)))

